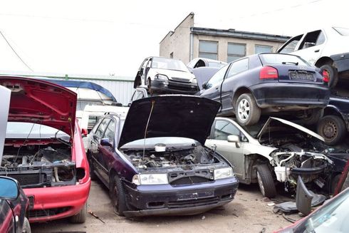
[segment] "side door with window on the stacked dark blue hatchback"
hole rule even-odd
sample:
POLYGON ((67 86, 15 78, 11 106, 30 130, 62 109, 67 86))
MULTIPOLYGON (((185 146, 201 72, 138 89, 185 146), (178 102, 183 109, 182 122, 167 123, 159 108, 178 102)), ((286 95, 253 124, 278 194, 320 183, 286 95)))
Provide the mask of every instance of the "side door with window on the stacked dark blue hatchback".
POLYGON ((229 65, 226 65, 217 71, 205 84, 205 88, 201 90, 200 96, 221 102, 221 86, 228 68, 229 65))

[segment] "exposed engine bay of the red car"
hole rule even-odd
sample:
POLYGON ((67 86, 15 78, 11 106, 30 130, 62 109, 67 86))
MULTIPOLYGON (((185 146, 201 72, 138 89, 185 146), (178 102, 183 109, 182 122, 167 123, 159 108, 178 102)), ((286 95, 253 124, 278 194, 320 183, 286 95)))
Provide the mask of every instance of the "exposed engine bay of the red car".
POLYGON ((6 145, 0 175, 15 178, 21 187, 74 185, 76 171, 71 147, 63 143, 6 145))

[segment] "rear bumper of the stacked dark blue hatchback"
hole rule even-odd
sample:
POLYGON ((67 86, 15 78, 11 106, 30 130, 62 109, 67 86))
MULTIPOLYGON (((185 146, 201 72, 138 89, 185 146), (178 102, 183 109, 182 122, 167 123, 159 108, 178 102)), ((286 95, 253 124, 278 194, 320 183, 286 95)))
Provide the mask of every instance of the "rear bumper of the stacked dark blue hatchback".
POLYGON ((328 87, 303 83, 261 83, 250 89, 259 108, 325 108, 330 98, 328 87))

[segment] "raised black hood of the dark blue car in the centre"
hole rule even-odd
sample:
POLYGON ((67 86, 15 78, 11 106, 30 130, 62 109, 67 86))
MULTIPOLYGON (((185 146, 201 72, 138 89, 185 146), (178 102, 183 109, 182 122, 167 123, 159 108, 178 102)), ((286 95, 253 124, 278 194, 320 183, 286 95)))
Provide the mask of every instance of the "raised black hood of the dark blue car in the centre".
POLYGON ((192 95, 135 100, 128 110, 118 147, 145 136, 192 138, 204 145, 219 106, 217 101, 192 95))

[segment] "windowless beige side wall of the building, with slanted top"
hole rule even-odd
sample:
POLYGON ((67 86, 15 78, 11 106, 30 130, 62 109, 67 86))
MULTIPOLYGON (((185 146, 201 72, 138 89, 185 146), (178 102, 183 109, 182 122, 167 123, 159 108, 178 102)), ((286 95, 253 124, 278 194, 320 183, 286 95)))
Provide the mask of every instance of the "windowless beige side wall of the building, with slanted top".
POLYGON ((189 14, 180 23, 175 31, 167 33, 165 38, 160 42, 160 56, 179 59, 184 64, 189 63, 190 58, 190 28, 194 26, 194 14, 189 14))

